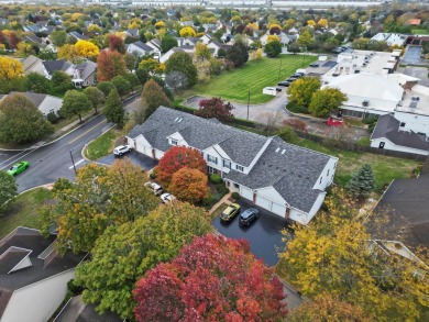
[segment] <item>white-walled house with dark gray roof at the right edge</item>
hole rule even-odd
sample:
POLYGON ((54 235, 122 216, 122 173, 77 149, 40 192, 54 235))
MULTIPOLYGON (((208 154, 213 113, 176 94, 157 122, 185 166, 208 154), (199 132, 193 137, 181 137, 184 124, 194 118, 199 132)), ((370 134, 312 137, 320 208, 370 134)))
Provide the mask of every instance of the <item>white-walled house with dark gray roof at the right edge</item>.
POLYGON ((391 114, 381 115, 371 135, 371 146, 428 155, 429 140, 425 134, 404 131, 405 123, 391 114))

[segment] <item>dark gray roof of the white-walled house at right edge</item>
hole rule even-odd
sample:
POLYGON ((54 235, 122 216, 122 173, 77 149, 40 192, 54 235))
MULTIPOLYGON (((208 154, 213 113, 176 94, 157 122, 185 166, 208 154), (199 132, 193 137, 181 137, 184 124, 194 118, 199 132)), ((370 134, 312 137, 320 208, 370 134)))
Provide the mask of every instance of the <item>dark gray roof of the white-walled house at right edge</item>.
POLYGON ((378 121, 371 136, 371 140, 385 137, 392 143, 399 146, 429 151, 429 142, 426 141, 425 135, 417 134, 413 131, 400 131, 399 125, 400 122, 396 120, 393 115, 381 115, 378 116, 378 121))

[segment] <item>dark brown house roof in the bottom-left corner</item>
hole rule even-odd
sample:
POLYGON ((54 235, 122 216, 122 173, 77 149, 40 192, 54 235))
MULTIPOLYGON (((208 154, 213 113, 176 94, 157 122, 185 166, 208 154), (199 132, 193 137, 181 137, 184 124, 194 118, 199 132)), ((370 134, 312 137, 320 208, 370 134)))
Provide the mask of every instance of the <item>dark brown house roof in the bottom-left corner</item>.
POLYGON ((61 257, 55 247, 48 248, 54 241, 53 235, 45 238, 40 231, 26 227, 18 227, 0 241, 0 267, 13 268, 13 264, 15 267, 20 256, 21 259, 29 256, 31 260, 31 266, 25 269, 16 269, 10 274, 4 273, 4 269, 0 271, 0 318, 14 290, 75 268, 85 257, 72 253, 61 257), (44 256, 41 256, 42 253, 44 256))

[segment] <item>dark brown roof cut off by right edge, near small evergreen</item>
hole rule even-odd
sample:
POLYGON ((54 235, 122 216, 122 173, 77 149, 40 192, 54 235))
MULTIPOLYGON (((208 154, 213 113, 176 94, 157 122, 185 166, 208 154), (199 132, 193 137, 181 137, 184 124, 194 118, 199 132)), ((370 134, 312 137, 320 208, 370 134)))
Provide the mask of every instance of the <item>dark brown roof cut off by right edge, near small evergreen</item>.
POLYGON ((376 211, 387 210, 393 220, 404 218, 411 225, 411 245, 429 247, 429 174, 396 179, 384 192, 376 211))

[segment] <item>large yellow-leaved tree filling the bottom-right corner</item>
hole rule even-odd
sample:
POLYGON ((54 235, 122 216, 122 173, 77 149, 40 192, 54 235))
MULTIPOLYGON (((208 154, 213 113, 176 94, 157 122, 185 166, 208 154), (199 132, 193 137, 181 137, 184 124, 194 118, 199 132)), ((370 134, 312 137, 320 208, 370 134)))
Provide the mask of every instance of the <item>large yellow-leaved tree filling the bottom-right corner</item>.
MULTIPOLYGON (((295 236, 282 254, 285 276, 307 297, 321 296, 355 306, 373 321, 417 321, 419 306, 429 307, 426 255, 408 259, 387 251, 384 242, 398 236, 403 223, 385 213, 359 213, 343 191, 327 198, 328 214, 310 225, 295 225, 295 236), (288 274, 290 271, 292 274, 288 274)), ((330 320, 326 320, 330 321, 330 320)))

